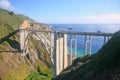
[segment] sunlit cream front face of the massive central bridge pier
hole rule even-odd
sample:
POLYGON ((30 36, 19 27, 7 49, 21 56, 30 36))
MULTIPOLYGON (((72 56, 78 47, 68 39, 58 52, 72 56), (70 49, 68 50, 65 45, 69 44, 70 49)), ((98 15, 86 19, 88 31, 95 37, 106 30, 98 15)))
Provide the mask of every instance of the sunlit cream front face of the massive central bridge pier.
POLYGON ((58 49, 59 49, 59 72, 67 67, 67 35, 59 34, 58 49))

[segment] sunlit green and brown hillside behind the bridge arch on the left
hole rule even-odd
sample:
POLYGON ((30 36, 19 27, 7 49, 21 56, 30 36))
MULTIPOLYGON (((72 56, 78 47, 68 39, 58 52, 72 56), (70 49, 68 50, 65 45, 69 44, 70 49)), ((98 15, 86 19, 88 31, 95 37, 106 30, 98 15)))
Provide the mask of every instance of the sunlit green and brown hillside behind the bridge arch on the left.
MULTIPOLYGON (((20 53, 18 29, 24 20, 28 19, 0 9, 0 80, 51 80, 51 61, 41 42, 29 36, 29 53, 26 56, 20 53)), ((32 19, 31 23, 38 25, 39 29, 49 28, 32 19)))

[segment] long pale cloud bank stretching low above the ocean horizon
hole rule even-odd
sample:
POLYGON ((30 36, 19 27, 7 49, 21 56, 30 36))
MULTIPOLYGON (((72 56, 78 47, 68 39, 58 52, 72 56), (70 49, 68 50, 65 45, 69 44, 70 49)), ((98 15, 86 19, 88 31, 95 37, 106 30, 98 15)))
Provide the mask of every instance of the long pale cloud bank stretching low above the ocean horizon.
POLYGON ((81 17, 61 17, 61 23, 120 23, 120 14, 88 15, 81 17))

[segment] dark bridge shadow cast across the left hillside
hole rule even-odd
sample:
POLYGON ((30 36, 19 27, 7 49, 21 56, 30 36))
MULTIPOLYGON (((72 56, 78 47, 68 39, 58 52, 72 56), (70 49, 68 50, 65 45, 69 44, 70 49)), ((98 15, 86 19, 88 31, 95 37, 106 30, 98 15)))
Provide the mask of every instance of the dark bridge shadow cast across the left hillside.
POLYGON ((9 33, 7 36, 5 36, 4 38, 0 39, 0 44, 4 43, 5 41, 8 42, 8 44, 10 45, 10 47, 12 47, 13 49, 15 49, 15 51, 0 51, 0 52, 20 52, 20 44, 18 41, 16 40, 11 40, 10 37, 14 36, 19 30, 15 30, 12 33, 9 33))

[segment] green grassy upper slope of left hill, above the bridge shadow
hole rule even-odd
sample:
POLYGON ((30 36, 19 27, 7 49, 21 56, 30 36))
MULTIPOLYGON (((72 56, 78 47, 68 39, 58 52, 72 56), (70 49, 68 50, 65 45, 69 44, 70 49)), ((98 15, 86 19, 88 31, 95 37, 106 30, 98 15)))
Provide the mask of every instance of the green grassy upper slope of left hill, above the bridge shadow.
POLYGON ((23 18, 17 16, 14 12, 0 9, 0 23, 9 27, 9 29, 11 29, 11 27, 13 29, 18 28, 22 22, 23 18))

